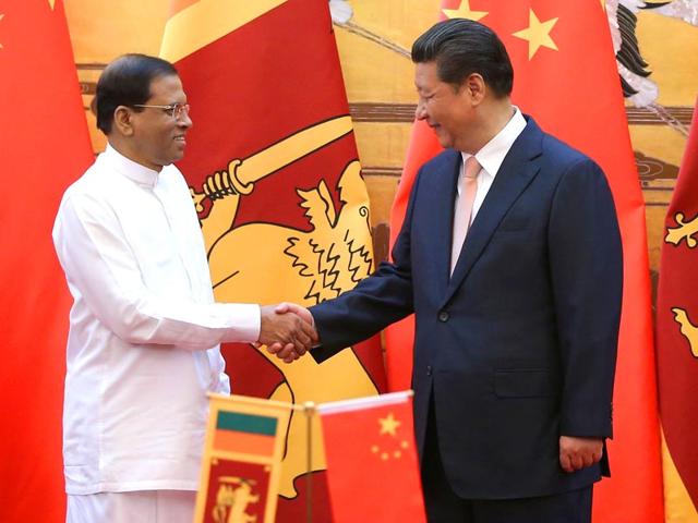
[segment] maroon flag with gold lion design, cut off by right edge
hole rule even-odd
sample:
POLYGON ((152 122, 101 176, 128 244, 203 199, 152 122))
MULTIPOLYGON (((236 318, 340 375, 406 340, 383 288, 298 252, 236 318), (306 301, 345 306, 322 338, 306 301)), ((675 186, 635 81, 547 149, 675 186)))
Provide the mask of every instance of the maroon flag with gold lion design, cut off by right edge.
POLYGON ((667 522, 698 522, 698 104, 669 206, 657 297, 667 522))

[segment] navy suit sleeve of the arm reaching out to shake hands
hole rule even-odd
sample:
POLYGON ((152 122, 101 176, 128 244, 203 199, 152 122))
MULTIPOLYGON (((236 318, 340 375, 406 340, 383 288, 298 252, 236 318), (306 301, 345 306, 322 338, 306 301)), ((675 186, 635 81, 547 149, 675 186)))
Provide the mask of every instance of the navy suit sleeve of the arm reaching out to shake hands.
POLYGON ((393 247, 393 263, 382 263, 373 275, 360 281, 352 290, 311 307, 321 342, 320 346, 311 351, 317 362, 372 337, 414 312, 410 242, 421 172, 420 169, 402 228, 393 247))

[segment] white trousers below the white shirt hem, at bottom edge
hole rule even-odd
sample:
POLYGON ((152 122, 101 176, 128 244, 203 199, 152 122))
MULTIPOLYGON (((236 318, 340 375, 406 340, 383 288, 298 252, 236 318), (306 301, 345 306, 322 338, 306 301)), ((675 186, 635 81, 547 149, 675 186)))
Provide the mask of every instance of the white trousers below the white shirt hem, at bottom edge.
POLYGON ((191 490, 69 495, 65 523, 192 523, 195 502, 191 490))

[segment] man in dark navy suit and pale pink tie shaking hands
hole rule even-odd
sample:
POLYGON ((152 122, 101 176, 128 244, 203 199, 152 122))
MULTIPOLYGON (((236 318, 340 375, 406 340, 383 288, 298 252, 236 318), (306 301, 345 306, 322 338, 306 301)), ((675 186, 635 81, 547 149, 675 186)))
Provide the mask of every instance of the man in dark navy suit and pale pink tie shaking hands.
POLYGON ((430 521, 588 522, 607 473, 622 301, 611 191, 512 105, 509 58, 484 25, 438 23, 412 60, 417 118, 446 150, 418 174, 394 263, 310 309, 311 354, 414 313, 430 521))

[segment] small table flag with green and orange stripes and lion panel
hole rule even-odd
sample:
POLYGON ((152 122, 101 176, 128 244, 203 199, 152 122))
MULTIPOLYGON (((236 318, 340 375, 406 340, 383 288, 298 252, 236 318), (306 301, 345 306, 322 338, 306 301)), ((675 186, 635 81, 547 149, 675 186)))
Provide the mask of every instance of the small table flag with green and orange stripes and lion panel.
POLYGON ((274 523, 292 405, 209 394, 196 523, 274 523))

